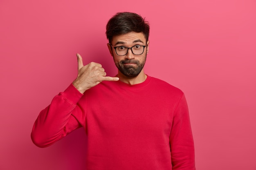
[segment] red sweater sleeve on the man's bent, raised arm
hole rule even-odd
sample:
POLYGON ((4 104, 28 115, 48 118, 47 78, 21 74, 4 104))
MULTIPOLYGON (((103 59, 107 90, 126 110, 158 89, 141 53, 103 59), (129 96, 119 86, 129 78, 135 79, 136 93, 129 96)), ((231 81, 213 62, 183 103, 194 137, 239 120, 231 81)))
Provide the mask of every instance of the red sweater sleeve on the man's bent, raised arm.
POLYGON ((76 107, 76 103, 82 96, 83 94, 70 84, 39 113, 31 132, 31 139, 36 146, 40 148, 50 146, 82 126, 82 121, 73 114, 79 115, 77 113, 81 110, 76 107))

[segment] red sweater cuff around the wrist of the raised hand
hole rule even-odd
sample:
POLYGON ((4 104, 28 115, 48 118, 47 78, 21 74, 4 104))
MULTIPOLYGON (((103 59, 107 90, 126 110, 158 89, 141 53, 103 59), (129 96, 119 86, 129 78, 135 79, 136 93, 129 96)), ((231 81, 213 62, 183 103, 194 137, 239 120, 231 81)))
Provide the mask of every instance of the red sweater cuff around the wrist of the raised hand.
POLYGON ((70 86, 66 88, 64 92, 62 92, 65 99, 67 99, 70 103, 76 105, 77 102, 81 99, 83 96, 82 93, 80 93, 74 85, 71 83, 70 86))

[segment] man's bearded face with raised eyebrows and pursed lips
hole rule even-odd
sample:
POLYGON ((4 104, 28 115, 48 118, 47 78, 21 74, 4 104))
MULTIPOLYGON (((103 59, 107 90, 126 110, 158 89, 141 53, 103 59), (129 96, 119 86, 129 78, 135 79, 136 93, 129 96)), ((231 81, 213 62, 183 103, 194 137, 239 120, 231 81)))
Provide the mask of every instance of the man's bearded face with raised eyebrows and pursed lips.
MULTIPOLYGON (((141 73, 143 70, 144 64, 146 62, 146 56, 148 53, 148 44, 146 42, 146 38, 143 33, 130 32, 123 35, 118 35, 113 37, 111 45, 108 44, 108 48, 110 50, 110 54, 113 56, 115 65, 117 66, 119 73, 125 75, 126 77, 133 78, 141 73), (117 55, 114 47, 118 49, 124 49, 125 47, 135 46, 132 50, 136 53, 137 47, 136 45, 140 45, 140 48, 144 48, 144 51, 140 55, 135 55, 132 53, 131 49, 128 49, 128 53, 126 55, 117 55), (123 48, 124 46, 124 48, 123 48)), ((120 53, 119 53, 120 54, 120 53)), ((137 54, 137 53, 136 53, 137 54)))

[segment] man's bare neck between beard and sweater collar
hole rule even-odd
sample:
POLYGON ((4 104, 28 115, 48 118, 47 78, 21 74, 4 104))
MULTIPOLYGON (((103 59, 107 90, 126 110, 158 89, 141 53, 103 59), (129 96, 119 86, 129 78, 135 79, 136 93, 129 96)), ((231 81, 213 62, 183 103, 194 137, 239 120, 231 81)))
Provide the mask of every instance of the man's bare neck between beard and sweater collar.
POLYGON ((117 77, 119 77, 119 80, 121 82, 130 84, 130 85, 134 85, 134 84, 139 84, 139 83, 144 82, 147 78, 147 75, 144 73, 144 70, 142 69, 141 72, 139 73, 139 75, 137 75, 136 77, 132 77, 132 78, 126 77, 125 75, 120 73, 120 71, 118 71, 117 77))

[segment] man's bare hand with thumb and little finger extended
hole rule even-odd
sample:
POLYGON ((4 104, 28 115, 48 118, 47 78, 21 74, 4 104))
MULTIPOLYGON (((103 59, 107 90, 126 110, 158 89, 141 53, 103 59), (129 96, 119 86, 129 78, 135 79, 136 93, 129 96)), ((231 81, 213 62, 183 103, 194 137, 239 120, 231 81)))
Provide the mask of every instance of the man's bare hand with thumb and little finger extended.
POLYGON ((102 81, 118 81, 118 77, 108 77, 101 64, 90 62, 87 65, 83 65, 83 59, 80 54, 76 54, 78 61, 78 75, 72 83, 75 88, 84 93, 86 90, 96 86, 102 81))

